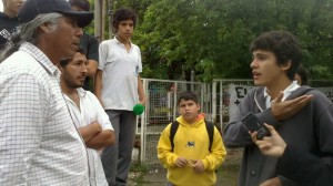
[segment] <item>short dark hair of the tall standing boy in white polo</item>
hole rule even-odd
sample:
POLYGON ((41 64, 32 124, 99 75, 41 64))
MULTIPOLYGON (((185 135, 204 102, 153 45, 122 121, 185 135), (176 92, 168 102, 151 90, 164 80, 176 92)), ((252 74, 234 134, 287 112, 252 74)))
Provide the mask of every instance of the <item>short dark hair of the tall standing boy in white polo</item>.
POLYGON ((118 31, 119 22, 120 21, 125 21, 125 20, 132 20, 133 23, 134 23, 134 28, 135 28, 135 25, 137 25, 137 19, 138 19, 138 16, 137 16, 137 13, 133 10, 131 10, 129 8, 118 9, 114 12, 113 19, 112 19, 113 29, 117 32, 118 31))

